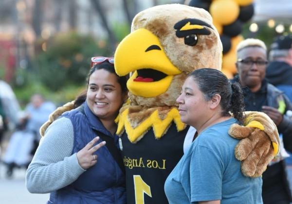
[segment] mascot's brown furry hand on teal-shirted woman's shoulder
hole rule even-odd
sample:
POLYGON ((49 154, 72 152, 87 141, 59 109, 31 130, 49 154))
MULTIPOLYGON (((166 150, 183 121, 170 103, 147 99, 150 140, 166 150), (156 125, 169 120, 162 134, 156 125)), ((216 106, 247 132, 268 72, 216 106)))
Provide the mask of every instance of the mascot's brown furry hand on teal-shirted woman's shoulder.
POLYGON ((262 112, 245 112, 244 126, 233 124, 229 134, 240 139, 235 157, 241 161, 241 171, 245 176, 261 176, 279 151, 277 127, 262 112))

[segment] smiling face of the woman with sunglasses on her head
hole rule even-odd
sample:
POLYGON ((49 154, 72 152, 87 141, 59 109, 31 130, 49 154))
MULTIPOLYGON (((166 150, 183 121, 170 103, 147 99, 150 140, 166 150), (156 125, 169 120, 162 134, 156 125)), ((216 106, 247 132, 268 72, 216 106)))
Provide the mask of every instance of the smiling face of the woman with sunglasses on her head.
POLYGON ((100 120, 114 120, 124 98, 125 94, 115 74, 98 69, 89 77, 87 103, 100 120))

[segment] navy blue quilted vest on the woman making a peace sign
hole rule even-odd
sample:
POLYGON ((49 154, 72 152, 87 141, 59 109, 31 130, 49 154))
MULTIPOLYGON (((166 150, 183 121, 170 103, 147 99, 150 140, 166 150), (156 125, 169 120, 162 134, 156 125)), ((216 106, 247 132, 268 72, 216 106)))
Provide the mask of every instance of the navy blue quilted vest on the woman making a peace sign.
MULTIPOLYGON (((73 124, 73 153, 84 148, 95 136, 104 134, 113 137, 101 121, 84 103, 84 114, 78 109, 62 115, 73 124), (97 132, 93 131, 93 129, 97 132)), ((116 141, 117 141, 117 136, 116 141)), ((99 142, 102 140, 99 139, 99 142)), ((51 193, 48 204, 125 204, 125 175, 106 146, 94 154, 97 163, 81 174, 72 184, 51 193)))

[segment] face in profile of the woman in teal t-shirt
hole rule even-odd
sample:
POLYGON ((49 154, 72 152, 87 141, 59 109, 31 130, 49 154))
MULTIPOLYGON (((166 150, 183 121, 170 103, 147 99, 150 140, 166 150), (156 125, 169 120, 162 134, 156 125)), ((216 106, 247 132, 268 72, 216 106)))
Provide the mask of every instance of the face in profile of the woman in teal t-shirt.
POLYGON ((204 98, 196 82, 188 77, 182 87, 182 93, 177 99, 181 120, 197 130, 209 117, 209 103, 204 98))

